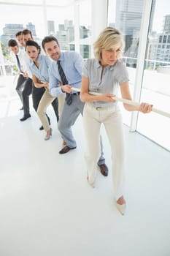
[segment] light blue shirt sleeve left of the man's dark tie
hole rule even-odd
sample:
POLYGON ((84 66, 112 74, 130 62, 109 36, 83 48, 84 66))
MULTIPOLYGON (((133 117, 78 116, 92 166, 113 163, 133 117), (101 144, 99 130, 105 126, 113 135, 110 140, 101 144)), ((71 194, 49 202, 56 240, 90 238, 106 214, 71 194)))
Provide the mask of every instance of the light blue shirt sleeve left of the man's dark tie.
POLYGON ((51 63, 50 67, 48 69, 48 75, 49 75, 49 91, 50 94, 53 97, 58 97, 61 94, 65 94, 62 90, 61 90, 61 86, 58 86, 58 79, 55 77, 54 75, 54 71, 53 69, 55 69, 55 67, 53 67, 55 63, 51 63))

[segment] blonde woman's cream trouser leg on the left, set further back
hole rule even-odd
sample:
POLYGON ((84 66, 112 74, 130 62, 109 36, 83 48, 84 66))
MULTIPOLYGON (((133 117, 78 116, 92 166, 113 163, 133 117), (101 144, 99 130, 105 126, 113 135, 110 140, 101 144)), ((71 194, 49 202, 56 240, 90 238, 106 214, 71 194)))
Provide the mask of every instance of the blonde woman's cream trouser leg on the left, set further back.
POLYGON ((86 151, 85 162, 87 165, 88 179, 92 184, 96 178, 97 162, 100 155, 100 127, 96 110, 85 104, 83 111, 83 125, 85 129, 86 151))

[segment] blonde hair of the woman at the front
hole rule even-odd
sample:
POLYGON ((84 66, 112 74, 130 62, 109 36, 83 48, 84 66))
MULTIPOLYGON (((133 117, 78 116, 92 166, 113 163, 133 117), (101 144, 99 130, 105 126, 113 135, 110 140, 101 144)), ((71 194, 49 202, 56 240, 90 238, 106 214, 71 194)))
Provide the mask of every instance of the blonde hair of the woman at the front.
POLYGON ((101 61, 101 50, 115 50, 118 48, 123 51, 123 35, 119 30, 109 26, 101 31, 98 39, 93 43, 94 56, 98 61, 101 61))

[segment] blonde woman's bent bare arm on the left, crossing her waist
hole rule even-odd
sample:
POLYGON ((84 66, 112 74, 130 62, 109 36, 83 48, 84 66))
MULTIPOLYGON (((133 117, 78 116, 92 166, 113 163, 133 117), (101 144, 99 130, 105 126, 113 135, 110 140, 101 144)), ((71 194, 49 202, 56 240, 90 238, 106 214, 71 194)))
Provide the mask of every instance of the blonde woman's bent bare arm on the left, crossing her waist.
POLYGON ((85 76, 82 76, 82 86, 80 91, 80 99, 82 102, 115 102, 115 100, 112 99, 114 96, 115 95, 113 94, 101 94, 97 96, 89 94, 89 80, 85 76))

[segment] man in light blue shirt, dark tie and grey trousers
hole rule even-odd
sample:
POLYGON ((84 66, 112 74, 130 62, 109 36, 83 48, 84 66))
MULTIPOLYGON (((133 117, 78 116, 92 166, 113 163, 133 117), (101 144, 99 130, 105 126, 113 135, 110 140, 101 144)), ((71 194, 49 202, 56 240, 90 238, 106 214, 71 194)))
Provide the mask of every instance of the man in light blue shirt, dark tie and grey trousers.
MULTIPOLYGON (((77 147, 76 140, 72 134, 72 125, 77 120, 80 113, 83 113, 84 103, 80 100, 80 92, 72 91, 72 87, 80 89, 82 83, 82 63, 83 59, 79 53, 74 51, 61 52, 58 40, 55 37, 45 37, 42 40, 42 48, 45 53, 53 59, 49 67, 50 94, 58 97, 66 94, 66 101, 63 105, 58 129, 63 140, 66 141, 59 154, 65 154, 77 147), (61 73, 62 69, 62 73, 61 73), (61 86, 58 86, 61 84, 61 86)), ((98 166, 104 176, 108 175, 108 168, 105 165, 104 154, 101 145, 101 157, 98 166)))

